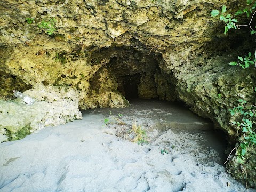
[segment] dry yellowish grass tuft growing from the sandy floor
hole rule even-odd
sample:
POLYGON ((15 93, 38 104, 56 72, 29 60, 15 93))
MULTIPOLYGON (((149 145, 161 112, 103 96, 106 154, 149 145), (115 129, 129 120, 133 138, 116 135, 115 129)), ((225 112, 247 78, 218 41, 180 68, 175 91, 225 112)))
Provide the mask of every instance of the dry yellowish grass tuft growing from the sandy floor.
POLYGON ((130 132, 135 134, 133 142, 137 142, 139 145, 142 143, 148 143, 146 131, 142 129, 140 125, 137 125, 136 121, 132 122, 132 127, 130 132))

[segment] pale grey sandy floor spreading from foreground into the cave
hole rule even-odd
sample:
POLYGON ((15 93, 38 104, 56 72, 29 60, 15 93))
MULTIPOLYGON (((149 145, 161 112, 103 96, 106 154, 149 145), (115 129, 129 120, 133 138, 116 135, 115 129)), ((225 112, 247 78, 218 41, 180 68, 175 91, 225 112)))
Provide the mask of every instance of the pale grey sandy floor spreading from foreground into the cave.
POLYGON ((1 143, 0 191, 246 191, 226 173, 225 142, 211 123, 178 104, 132 103, 1 143), (131 142, 135 121, 148 144, 131 142))

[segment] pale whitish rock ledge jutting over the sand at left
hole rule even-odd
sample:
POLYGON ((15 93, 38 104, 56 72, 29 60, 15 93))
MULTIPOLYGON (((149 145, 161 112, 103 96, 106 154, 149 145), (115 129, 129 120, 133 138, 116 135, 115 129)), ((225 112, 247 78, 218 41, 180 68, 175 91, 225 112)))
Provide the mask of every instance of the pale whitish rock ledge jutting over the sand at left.
POLYGON ((72 88, 36 84, 24 94, 35 100, 27 105, 20 98, 0 100, 0 142, 22 139, 45 126, 81 119, 77 93, 72 88))

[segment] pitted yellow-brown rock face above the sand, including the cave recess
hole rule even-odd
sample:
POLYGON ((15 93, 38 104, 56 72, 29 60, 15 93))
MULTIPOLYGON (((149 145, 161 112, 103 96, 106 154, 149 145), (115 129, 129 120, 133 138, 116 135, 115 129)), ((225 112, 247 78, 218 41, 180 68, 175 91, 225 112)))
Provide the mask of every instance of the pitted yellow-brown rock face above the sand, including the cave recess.
MULTIPOLYGON (((230 141, 235 142, 239 134, 230 125, 228 109, 237 106, 241 98, 255 103, 255 70, 241 70, 228 63, 253 46, 244 43, 243 31, 239 32, 242 38, 235 33, 225 36, 223 23, 212 18, 210 12, 221 9, 222 5, 234 12, 244 3, 242 0, 0 1, 1 106, 8 106, 1 114, 8 110, 35 111, 31 114, 39 116, 38 122, 50 119, 54 123, 44 125, 55 125, 61 123, 52 120, 56 115, 45 115, 50 113, 48 107, 36 110, 39 105, 49 108, 57 105, 59 115, 70 121, 81 117, 78 100, 80 109, 88 109, 125 107, 129 105, 126 99, 132 97, 158 98, 185 102, 198 115, 210 118, 215 127, 227 132, 230 141), (38 27, 42 21, 47 27, 38 27), (53 34, 49 35, 49 30, 53 34), (21 91, 32 87, 26 93, 39 103, 27 106, 10 100, 17 86, 21 91), (46 98, 42 97, 41 89, 46 98), (61 108, 60 103, 55 105, 57 101, 49 99, 58 89, 68 90, 61 91, 58 96, 61 101, 73 100, 68 102, 68 108, 74 110, 68 114, 67 106, 61 108)), ((15 139, 10 135, 23 127, 30 131, 37 129, 36 122, 26 122, 14 126, 1 121, 5 140, 15 139)), ((255 158, 255 153, 250 153, 244 166, 252 187, 256 185, 255 158)), ((233 176, 246 182, 245 172, 236 160, 229 162, 229 170, 231 174, 236 170, 233 176)))

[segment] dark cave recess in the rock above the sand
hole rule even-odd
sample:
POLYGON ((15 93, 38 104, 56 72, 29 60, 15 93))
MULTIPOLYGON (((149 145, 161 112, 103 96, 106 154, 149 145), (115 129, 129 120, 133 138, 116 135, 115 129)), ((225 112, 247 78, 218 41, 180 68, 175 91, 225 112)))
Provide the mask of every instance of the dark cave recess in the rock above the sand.
POLYGON ((178 100, 172 74, 165 74, 159 67, 161 54, 134 47, 113 47, 101 51, 110 53, 105 68, 117 82, 117 91, 127 100, 134 98, 178 100))

